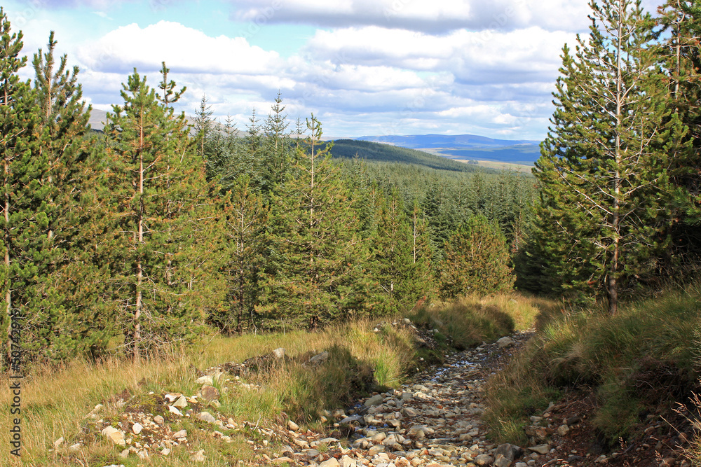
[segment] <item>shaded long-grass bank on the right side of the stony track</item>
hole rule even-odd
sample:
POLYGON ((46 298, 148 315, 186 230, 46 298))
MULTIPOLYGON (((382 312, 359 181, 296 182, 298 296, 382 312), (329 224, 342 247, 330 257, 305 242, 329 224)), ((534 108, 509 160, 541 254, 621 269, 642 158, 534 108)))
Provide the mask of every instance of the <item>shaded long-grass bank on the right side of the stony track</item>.
POLYGON ((543 410, 566 389, 596 391, 593 424, 610 445, 635 433, 639 414, 671 407, 695 387, 701 322, 698 287, 620 307, 564 312, 536 320, 538 333, 490 384, 486 420, 494 438, 523 440, 513 426, 543 410))

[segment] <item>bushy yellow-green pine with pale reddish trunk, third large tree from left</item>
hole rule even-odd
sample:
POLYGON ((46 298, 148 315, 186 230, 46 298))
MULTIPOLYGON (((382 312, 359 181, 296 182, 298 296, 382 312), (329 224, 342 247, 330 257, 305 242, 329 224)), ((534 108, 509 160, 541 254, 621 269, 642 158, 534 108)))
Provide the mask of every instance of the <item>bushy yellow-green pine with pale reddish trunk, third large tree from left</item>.
POLYGON ((192 337, 203 322, 200 300, 207 294, 198 288, 210 288, 211 271, 204 251, 211 256, 218 247, 205 235, 212 216, 202 213, 203 161, 184 114, 174 116, 136 70, 122 97, 108 117, 106 196, 115 222, 115 300, 125 344, 138 362, 192 337))

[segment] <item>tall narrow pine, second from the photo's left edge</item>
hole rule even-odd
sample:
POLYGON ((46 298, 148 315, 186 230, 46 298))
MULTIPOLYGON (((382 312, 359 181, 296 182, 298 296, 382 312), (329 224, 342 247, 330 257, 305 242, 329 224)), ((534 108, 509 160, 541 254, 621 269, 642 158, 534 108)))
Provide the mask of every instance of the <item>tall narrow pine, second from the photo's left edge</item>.
POLYGON ((43 233, 46 256, 37 263, 41 283, 38 301, 28 324, 35 351, 41 349, 50 358, 65 359, 95 354, 109 339, 111 326, 86 307, 86 294, 76 285, 76 278, 92 268, 86 258, 86 242, 90 240, 83 232, 86 212, 81 207, 92 176, 91 164, 86 162, 91 151, 86 137, 90 107, 83 101, 78 67, 68 71, 66 55, 56 64, 56 43, 51 32, 46 53, 40 49, 32 62, 41 117, 37 131, 43 141, 41 152, 48 158, 41 180, 48 195, 40 208, 48 225, 43 233), (88 320, 91 326, 84 324, 88 320))

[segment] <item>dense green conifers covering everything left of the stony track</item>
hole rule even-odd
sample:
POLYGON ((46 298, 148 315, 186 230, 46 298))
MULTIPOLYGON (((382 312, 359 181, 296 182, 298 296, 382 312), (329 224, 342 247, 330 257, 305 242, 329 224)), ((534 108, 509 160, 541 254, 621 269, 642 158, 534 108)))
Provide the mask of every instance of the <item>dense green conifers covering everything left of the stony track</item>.
POLYGON ((315 328, 512 286, 532 179, 339 163, 313 116, 290 132, 279 96, 245 132, 204 98, 190 125, 165 63, 156 88, 128 76, 90 132, 53 33, 33 82, 1 9, 0 34, 0 326, 20 323, 25 358, 139 361, 212 328, 315 328))

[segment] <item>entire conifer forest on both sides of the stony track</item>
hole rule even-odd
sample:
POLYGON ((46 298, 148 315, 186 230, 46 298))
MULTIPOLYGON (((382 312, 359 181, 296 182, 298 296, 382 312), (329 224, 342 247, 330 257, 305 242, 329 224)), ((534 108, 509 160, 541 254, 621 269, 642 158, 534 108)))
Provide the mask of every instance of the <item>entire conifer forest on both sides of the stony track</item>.
POLYGON ((592 8, 590 36, 562 50, 533 176, 332 158, 323 123, 291 120, 280 95, 243 123, 203 97, 188 120, 165 63, 125 76, 95 132, 53 33, 29 64, 0 10, 0 328, 19 312, 32 360, 139 361, 212 331, 315 329, 515 286, 615 314, 693 276, 701 10, 592 8))

